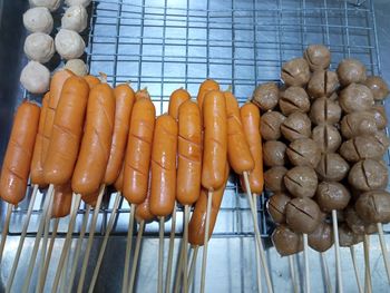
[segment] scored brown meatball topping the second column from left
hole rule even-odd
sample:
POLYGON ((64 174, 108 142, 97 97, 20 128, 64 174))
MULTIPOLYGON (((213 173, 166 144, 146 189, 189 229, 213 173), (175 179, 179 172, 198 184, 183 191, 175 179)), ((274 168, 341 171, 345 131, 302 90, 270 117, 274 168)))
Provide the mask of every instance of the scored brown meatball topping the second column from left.
POLYGON ((287 86, 305 86, 310 79, 310 69, 306 60, 294 58, 284 64, 282 67, 282 79, 287 86))

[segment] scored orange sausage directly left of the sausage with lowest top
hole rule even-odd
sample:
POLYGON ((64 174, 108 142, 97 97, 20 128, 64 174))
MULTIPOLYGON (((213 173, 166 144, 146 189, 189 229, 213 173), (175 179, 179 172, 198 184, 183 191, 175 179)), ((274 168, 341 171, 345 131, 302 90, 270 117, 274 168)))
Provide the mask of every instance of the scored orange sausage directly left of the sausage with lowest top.
POLYGON ((125 170, 124 196, 131 204, 145 201, 156 109, 150 99, 138 99, 133 107, 130 130, 128 134, 125 170))

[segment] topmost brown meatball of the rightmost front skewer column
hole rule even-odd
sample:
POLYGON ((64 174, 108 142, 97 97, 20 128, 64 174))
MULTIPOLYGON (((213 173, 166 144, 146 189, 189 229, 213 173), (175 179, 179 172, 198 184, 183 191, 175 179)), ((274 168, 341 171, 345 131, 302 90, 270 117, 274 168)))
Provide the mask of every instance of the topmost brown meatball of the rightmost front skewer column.
POLYGON ((367 78, 364 65, 357 59, 342 60, 337 71, 342 86, 363 82, 367 78))

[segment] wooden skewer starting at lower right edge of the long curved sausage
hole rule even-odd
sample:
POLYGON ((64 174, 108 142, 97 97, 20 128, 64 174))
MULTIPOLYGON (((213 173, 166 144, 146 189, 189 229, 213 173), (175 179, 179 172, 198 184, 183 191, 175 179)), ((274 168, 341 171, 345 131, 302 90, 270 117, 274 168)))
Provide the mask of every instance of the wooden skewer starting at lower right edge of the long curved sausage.
POLYGON ((92 215, 92 222, 90 223, 89 226, 89 237, 88 237, 88 243, 87 243, 87 248, 84 255, 84 260, 82 260, 82 266, 81 266, 81 273, 80 273, 80 280, 78 283, 78 287, 77 287, 77 292, 81 293, 82 292, 82 287, 84 287, 84 282, 86 279, 86 274, 87 274, 87 266, 88 266, 88 261, 89 261, 89 254, 90 251, 92 248, 92 244, 94 244, 94 236, 95 236, 95 228, 96 228, 96 223, 99 216, 99 209, 100 209, 100 205, 101 205, 101 199, 103 199, 103 195, 105 193, 105 188, 106 186, 103 184, 100 186, 100 192, 96 202, 96 206, 94 208, 94 215, 92 215))

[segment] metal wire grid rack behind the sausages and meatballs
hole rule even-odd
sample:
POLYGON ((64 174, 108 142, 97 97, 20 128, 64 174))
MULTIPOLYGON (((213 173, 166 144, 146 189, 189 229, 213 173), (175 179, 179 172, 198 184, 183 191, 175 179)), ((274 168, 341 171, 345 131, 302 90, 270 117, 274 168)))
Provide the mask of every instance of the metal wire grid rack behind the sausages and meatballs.
MULTIPOLYGON (((310 43, 330 47, 332 69, 342 58, 357 57, 370 74, 381 70, 372 0, 94 0, 88 12, 85 38, 90 72, 106 72, 113 86, 130 81, 134 89, 147 87, 157 114, 167 110, 173 90, 184 87, 195 97, 208 77, 222 88, 231 85, 244 102, 260 82, 279 81, 282 64, 301 56, 310 43)), ((253 235, 250 208, 237 183, 231 177, 214 237, 253 235)), ((31 223, 38 223, 41 199, 39 195, 31 223)), ((264 237, 272 229, 265 199, 266 195, 257 201, 264 237)), ((106 198, 101 209, 97 225, 101 234, 113 203, 114 196, 106 198)), ((27 206, 28 199, 13 212, 10 234, 20 234, 27 206)), ((113 235, 127 233, 128 213, 124 201, 113 235)), ((37 226, 30 225, 28 235, 35 236, 37 226)), ((157 223, 147 225, 146 236, 155 236, 157 228, 157 223)), ((58 235, 66 231, 64 219, 58 235)))

